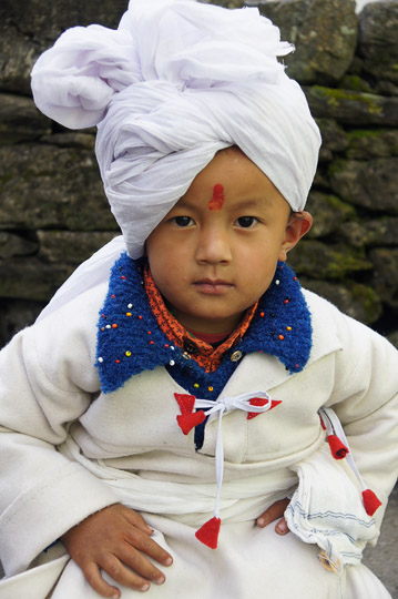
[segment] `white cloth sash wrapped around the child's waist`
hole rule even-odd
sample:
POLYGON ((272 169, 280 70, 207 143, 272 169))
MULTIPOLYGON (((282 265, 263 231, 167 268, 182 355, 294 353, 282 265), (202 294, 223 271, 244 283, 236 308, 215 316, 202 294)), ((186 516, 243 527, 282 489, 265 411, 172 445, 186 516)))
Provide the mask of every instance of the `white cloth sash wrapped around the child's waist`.
MULTIPOLYGON (((217 485, 211 483, 171 481, 145 478, 145 476, 124 471, 109 466, 108 460, 90 460, 82 455, 79 445, 69 438, 62 446, 62 455, 84 466, 89 473, 103 481, 124 505, 151 515, 169 518, 197 528, 204 524, 214 509, 217 485)), ((220 509, 225 522, 254 520, 263 506, 271 505, 275 497, 284 498, 296 487, 297 476, 293 471, 276 470, 267 477, 255 473, 243 479, 234 478, 223 485, 220 509)))

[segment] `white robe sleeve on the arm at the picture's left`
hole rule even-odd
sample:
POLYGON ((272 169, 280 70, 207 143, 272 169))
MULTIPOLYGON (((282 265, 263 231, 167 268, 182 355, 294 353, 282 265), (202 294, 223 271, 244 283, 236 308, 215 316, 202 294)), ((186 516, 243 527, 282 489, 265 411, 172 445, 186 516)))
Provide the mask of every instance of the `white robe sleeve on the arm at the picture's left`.
POLYGON ((18 334, 0 353, 0 555, 8 576, 83 518, 116 501, 57 450, 99 392, 96 287, 18 334))

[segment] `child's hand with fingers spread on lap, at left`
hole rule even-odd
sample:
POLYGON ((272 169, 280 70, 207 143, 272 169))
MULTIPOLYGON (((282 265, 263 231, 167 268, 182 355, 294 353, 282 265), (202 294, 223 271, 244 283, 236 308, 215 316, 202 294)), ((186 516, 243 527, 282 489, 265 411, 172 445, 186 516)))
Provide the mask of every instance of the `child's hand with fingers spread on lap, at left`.
POLYGON ((152 532, 136 511, 115 504, 89 516, 61 540, 91 587, 103 597, 119 598, 120 590, 105 582, 101 568, 116 582, 141 591, 150 581, 164 582, 165 576, 145 556, 163 566, 173 559, 151 539, 152 532))

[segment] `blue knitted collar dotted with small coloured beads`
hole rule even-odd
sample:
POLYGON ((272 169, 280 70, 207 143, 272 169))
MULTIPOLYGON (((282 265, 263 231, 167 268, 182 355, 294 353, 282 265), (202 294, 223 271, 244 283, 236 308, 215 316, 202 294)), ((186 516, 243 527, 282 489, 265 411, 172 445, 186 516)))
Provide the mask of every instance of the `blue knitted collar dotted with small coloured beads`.
MULTIPOLYGON (((96 347, 103 393, 116 390, 143 370, 178 364, 184 352, 173 346, 157 325, 144 290, 143 266, 143 260, 133 261, 124 253, 111 272, 96 347)), ((300 372, 307 364, 310 314, 297 277, 285 263, 278 263, 251 326, 233 351, 237 348, 244 354, 276 356, 290 373, 300 372)), ((200 366, 195 364, 195 368, 200 366)), ((218 370, 223 370, 223 363, 218 370)))

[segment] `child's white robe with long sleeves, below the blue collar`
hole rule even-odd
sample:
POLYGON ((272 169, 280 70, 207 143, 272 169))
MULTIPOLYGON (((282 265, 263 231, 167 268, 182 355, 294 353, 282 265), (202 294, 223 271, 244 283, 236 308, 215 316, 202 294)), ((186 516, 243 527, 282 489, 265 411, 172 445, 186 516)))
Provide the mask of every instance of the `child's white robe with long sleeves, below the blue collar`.
POLYGON ((388 598, 365 566, 341 576, 327 571, 316 545, 293 534, 279 537, 273 526, 259 529, 254 520, 297 485, 297 464, 323 450, 317 410, 333 406, 364 479, 382 501, 379 526, 398 463, 392 346, 306 292, 314 337, 304 370, 290 375, 265 354, 242 359, 222 395, 264 389, 282 404, 253 420, 239 410, 223 418, 223 524, 212 551, 194 531, 214 505, 216 419, 195 450, 193 432, 184 436, 176 423, 174 393, 185 389, 163 367, 101 394, 93 364, 105 292, 101 285, 73 300, 0 354, 0 556, 7 575, 0 599, 44 599, 59 577, 53 599, 98 599, 61 544, 43 550, 115 501, 141 510, 174 557, 164 568, 166 582, 151 586, 154 599, 388 598))

